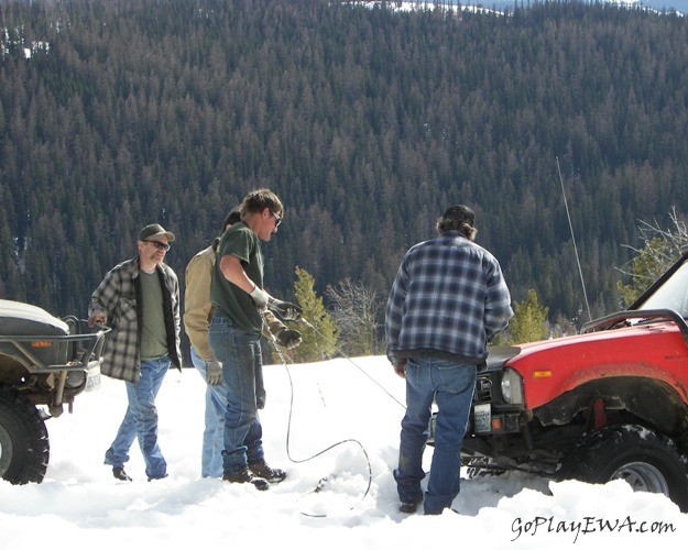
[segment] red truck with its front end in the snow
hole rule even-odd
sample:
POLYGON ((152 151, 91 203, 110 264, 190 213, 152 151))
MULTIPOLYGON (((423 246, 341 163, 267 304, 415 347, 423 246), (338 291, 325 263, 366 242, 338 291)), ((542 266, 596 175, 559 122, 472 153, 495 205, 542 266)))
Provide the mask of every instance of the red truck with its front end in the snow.
POLYGON ((623 479, 688 510, 686 318, 688 251, 629 309, 577 336, 491 348, 463 465, 471 474, 623 479))

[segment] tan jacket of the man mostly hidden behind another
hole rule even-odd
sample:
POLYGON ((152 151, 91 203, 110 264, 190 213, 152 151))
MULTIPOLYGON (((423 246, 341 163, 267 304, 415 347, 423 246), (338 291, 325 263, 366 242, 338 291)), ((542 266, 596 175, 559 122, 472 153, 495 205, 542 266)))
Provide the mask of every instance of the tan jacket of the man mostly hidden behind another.
MULTIPOLYGON (((208 343, 208 328, 215 309, 210 302, 210 282, 215 265, 216 249, 219 239, 205 250, 196 254, 186 266, 186 292, 184 295, 184 328, 192 345, 198 355, 206 360, 212 356, 208 343)), ((263 334, 270 338, 270 332, 276 334, 285 328, 272 312, 263 311, 267 328, 263 334)))

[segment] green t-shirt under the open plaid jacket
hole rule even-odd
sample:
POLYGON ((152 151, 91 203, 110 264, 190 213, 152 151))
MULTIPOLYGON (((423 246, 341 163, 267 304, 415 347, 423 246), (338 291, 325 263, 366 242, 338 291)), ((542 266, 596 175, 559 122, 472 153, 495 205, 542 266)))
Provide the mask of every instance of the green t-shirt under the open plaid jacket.
POLYGON ((167 354, 167 333, 165 331, 165 312, 163 288, 157 271, 145 273, 139 271, 141 279, 141 359, 160 359, 167 354))

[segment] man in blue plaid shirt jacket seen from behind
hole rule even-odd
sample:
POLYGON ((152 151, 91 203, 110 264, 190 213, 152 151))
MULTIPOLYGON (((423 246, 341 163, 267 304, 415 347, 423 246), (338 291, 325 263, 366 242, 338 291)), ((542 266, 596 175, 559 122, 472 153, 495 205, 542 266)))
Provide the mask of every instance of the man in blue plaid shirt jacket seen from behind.
POLYGON ((441 514, 459 494, 460 450, 487 345, 513 316, 500 264, 473 242, 476 215, 452 206, 437 220, 438 237, 412 246, 387 300, 387 358, 406 378, 398 468, 400 510, 423 499, 423 450, 435 400, 435 451, 424 512, 441 514))

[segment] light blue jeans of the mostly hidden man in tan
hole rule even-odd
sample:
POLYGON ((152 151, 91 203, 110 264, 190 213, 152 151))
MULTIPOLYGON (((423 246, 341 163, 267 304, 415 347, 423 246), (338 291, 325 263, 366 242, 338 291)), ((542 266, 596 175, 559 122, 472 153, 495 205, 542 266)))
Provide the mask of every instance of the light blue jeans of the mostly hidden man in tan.
MULTIPOLYGON (((206 362, 192 345, 192 362, 206 380, 206 362)), ((222 449, 225 448, 225 409, 227 395, 225 387, 206 385, 206 415, 200 453, 200 475, 222 477, 222 449)))

